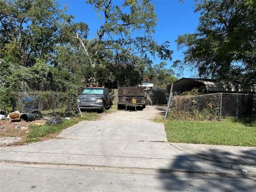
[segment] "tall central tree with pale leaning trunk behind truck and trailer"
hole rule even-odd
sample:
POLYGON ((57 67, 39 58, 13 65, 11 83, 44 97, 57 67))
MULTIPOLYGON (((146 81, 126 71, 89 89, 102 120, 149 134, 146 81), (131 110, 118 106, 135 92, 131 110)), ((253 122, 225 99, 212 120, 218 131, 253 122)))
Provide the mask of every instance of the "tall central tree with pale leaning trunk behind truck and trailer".
POLYGON ((121 5, 116 5, 111 0, 87 0, 86 3, 93 5, 100 19, 103 20, 103 25, 96 31, 97 37, 87 39, 79 35, 69 18, 63 31, 69 31, 68 36, 76 38, 83 47, 94 71, 91 73, 93 76, 91 79, 101 79, 101 83, 108 82, 108 84, 110 82, 112 82, 110 84, 118 82, 118 85, 127 85, 127 82, 137 84, 143 76, 142 63, 144 65, 151 63, 148 54, 171 60, 172 51, 169 50, 169 42, 158 45, 151 36, 157 18, 154 6, 148 0, 125 0, 121 5), (100 69, 106 71, 105 75, 100 69), (123 76, 127 78, 126 83, 118 81, 118 78, 122 79, 122 77, 117 77, 120 73, 114 71, 115 69, 125 72, 123 76), (134 71, 138 72, 136 75, 140 78, 134 78, 134 71), (113 74, 116 74, 115 77, 113 74), (102 77, 105 77, 105 81, 102 77))

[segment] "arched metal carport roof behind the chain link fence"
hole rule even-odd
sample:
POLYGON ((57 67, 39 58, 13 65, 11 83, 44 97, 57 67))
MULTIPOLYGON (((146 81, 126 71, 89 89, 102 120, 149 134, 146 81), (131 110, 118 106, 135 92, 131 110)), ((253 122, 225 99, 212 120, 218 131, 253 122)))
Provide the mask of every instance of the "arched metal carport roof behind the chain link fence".
POLYGON ((256 92, 256 84, 243 85, 238 81, 199 79, 199 78, 181 78, 173 83, 174 92, 184 92, 193 89, 193 87, 204 86, 205 91, 209 92, 256 92))

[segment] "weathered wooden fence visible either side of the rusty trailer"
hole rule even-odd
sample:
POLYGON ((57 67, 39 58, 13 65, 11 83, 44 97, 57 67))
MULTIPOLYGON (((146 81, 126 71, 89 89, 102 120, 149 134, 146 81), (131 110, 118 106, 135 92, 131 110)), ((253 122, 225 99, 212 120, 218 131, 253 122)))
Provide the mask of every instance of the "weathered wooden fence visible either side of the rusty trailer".
MULTIPOLYGON (((118 103, 118 89, 109 90, 112 95, 112 102, 114 105, 118 103)), ((146 90, 145 97, 147 105, 165 105, 167 104, 167 99, 169 96, 167 89, 156 89, 156 90, 146 90)))

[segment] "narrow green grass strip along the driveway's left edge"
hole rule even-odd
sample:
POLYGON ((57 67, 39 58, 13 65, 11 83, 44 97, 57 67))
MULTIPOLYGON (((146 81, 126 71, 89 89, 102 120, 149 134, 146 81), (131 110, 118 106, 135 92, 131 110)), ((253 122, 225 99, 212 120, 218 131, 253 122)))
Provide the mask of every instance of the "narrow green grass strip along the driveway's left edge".
POLYGON ((26 142, 40 141, 43 137, 47 137, 51 134, 59 133, 63 129, 73 126, 81 121, 93 121, 99 119, 100 114, 83 112, 83 117, 71 118, 70 120, 63 119, 63 122, 58 125, 30 125, 29 133, 26 138, 26 142))

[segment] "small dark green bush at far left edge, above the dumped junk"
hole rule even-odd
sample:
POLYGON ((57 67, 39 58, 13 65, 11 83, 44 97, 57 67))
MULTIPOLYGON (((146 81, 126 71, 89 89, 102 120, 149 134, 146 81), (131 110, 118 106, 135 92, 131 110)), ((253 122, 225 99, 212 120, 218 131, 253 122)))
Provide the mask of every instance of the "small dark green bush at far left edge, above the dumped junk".
POLYGON ((9 88, 0 87, 0 110, 6 114, 13 110, 13 94, 9 88))

